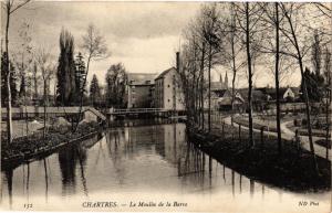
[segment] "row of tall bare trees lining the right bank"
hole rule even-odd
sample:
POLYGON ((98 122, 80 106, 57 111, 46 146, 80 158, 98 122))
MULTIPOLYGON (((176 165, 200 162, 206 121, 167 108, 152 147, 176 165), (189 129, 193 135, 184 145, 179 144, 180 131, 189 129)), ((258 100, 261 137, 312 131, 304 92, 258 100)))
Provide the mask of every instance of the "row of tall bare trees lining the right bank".
MULTIPOLYGON (((241 76, 247 78, 249 142, 253 146, 253 81, 258 67, 266 67, 274 77, 278 151, 281 153, 280 81, 293 72, 299 72, 302 79, 305 79, 305 66, 312 65, 315 86, 322 88, 322 85, 325 85, 323 88, 325 90, 330 87, 326 84, 331 78, 331 23, 329 23, 331 8, 329 7, 322 3, 284 2, 203 4, 197 17, 184 31, 185 42, 181 46, 181 63, 178 70, 189 120, 205 128, 204 109, 208 108, 207 130, 210 131, 211 70, 224 68, 232 74, 232 106, 236 82, 241 73, 241 76), (324 57, 324 65, 322 57, 324 57), (204 106, 206 98, 207 107, 204 106)), ((308 92, 308 88, 312 87, 309 86, 308 81, 302 81, 301 87, 307 105, 310 148, 317 168, 310 123, 310 92, 308 92)))

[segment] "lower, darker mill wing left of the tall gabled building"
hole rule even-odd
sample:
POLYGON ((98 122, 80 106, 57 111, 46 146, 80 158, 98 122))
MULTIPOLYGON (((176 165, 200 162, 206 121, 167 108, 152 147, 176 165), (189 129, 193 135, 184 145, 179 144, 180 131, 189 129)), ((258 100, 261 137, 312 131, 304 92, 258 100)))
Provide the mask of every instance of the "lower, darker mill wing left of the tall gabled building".
POLYGON ((129 73, 127 87, 127 108, 154 107, 156 74, 129 73))

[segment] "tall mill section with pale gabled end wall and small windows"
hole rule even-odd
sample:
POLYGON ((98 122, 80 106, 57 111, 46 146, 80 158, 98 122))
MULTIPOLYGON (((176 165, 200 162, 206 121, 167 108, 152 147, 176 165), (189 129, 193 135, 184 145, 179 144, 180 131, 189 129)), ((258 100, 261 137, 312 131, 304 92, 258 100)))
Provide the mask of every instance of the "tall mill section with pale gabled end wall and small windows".
POLYGON ((155 78, 155 107, 168 110, 184 110, 183 92, 177 82, 177 72, 170 67, 155 78))

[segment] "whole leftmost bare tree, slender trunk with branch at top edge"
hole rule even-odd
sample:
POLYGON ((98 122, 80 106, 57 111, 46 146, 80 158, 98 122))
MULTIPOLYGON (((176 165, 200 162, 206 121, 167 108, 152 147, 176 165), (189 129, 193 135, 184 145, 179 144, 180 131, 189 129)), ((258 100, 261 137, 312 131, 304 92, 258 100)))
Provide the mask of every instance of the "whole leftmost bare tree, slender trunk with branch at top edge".
POLYGON ((4 28, 4 46, 6 46, 6 70, 7 70, 7 94, 8 94, 8 103, 7 103, 7 142, 10 143, 12 141, 12 116, 11 116, 11 90, 10 90, 10 76, 11 72, 9 68, 9 26, 10 26, 10 18, 17 12, 20 8, 25 6, 30 0, 20 1, 18 3, 14 0, 7 0, 2 3, 2 9, 4 9, 6 15, 6 28, 4 28))

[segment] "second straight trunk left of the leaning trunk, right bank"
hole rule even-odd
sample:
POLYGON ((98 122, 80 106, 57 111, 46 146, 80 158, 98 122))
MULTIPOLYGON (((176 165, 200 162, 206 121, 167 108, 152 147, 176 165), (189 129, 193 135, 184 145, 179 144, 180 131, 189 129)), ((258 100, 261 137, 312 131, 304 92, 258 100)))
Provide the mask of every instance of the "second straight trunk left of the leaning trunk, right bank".
POLYGON ((253 146, 253 130, 252 130, 252 71, 251 71, 251 54, 250 54, 250 34, 249 34, 249 3, 246 2, 246 47, 247 47, 247 62, 249 75, 249 89, 248 89, 248 110, 249 110, 249 143, 253 146))

